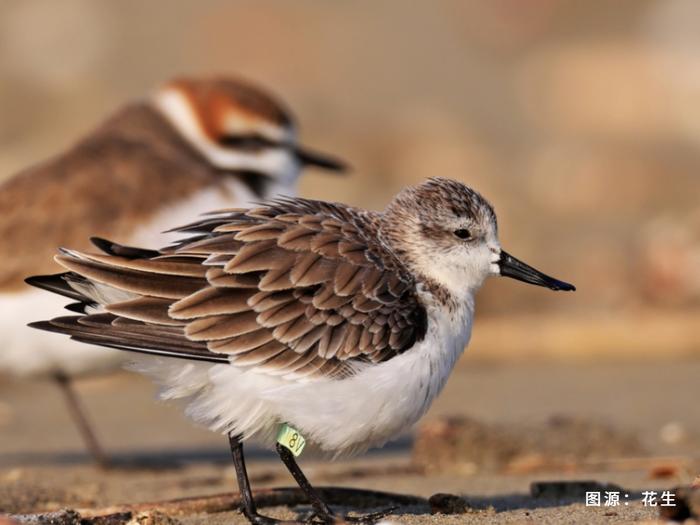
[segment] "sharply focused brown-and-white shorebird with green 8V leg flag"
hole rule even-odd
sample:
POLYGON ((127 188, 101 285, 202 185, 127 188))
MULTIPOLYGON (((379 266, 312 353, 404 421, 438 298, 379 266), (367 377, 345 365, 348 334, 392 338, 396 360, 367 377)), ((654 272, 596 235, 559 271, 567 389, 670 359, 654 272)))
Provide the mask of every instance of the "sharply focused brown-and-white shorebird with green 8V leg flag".
POLYGON ((469 340, 488 276, 574 290, 503 251, 491 205, 447 179, 403 190, 383 212, 282 198, 176 231, 186 237, 158 252, 61 250, 62 283, 31 283, 86 313, 32 326, 144 354, 136 366, 163 397, 228 434, 256 524, 274 520, 256 510, 244 440, 272 444, 281 427, 282 461, 332 522, 294 459, 300 436, 338 456, 415 423, 469 340))

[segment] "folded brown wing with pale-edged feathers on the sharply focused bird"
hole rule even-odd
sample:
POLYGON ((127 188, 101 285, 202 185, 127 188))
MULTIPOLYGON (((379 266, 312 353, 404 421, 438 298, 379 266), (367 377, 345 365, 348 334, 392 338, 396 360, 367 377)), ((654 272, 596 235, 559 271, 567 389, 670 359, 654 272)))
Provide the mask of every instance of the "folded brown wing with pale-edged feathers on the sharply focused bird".
MULTIPOLYGON (((58 259, 142 296, 108 305, 118 316, 110 344, 122 334, 127 346, 142 337, 139 348, 152 342, 159 351, 168 342, 182 351, 205 345, 234 366, 312 380, 348 377, 360 362, 391 359, 423 337, 425 310, 410 274, 372 240, 368 212, 282 199, 228 220, 231 228, 226 216, 190 224, 188 232, 206 237, 138 263, 73 252, 58 259), (162 322, 164 311, 173 326, 162 322)), ((106 322, 89 317, 93 330, 106 322)))

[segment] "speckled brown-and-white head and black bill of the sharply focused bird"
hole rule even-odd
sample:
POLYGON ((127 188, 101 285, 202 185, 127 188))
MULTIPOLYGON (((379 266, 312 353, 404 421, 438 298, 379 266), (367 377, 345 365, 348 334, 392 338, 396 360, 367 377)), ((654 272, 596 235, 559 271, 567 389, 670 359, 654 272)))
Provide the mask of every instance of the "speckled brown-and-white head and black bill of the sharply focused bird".
POLYGON ((431 178, 389 204, 382 234, 411 269, 456 297, 473 294, 491 275, 551 290, 575 290, 506 253, 489 202, 464 184, 431 178))

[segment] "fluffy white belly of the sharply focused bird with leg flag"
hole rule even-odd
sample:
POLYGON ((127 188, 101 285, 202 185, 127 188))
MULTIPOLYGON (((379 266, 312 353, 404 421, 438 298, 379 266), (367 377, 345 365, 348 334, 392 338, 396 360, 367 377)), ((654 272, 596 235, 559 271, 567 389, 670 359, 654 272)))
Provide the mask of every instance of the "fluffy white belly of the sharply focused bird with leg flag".
POLYGON ((340 381, 291 382, 230 365, 152 357, 139 357, 137 368, 164 386, 163 398, 187 398, 187 415, 212 430, 270 445, 278 424, 287 422, 322 451, 351 454, 412 426, 442 390, 468 342, 471 313, 458 325, 431 321, 414 348, 340 381))

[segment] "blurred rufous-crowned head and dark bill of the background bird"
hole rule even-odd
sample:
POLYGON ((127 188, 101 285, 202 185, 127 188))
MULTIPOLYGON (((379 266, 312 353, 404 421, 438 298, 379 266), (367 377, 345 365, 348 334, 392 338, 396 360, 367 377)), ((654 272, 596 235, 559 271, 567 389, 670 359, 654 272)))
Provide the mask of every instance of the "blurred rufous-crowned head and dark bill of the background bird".
POLYGON ((179 78, 155 106, 213 166, 293 184, 305 166, 343 171, 340 160, 302 147, 291 113, 262 89, 230 78, 179 78))

